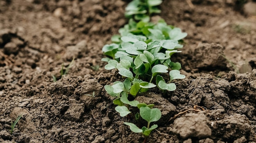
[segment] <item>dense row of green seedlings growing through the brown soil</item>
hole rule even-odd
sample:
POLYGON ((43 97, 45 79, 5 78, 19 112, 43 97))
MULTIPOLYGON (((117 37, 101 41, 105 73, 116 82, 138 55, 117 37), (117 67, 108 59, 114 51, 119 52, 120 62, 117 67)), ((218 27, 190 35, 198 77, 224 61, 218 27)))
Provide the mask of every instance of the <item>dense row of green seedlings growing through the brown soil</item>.
POLYGON ((175 79, 183 79, 180 74, 181 64, 171 61, 174 53, 181 52, 183 47, 179 43, 187 33, 180 28, 167 25, 164 20, 156 24, 148 22, 151 13, 159 13, 157 8, 162 0, 133 0, 126 8, 126 15, 134 16, 124 28, 119 29, 120 35, 114 35, 113 43, 104 45, 102 51, 107 58, 102 61, 108 62, 105 69, 117 69, 118 73, 126 78, 124 82, 116 81, 112 85, 105 85, 109 95, 115 97, 113 101, 117 105, 115 110, 121 117, 131 114, 129 106, 139 108, 135 119, 148 122, 147 126, 138 128, 135 124, 125 122, 130 126, 132 132, 142 133, 145 139, 150 132, 157 128, 151 122, 161 118, 161 111, 153 108, 154 104, 147 105, 139 103, 135 98, 150 88, 158 87, 162 91, 174 91, 176 85, 172 83, 175 79), (168 73, 168 81, 162 74, 168 73), (128 100, 129 99, 129 100, 128 100), (133 100, 131 100, 133 99, 133 100))

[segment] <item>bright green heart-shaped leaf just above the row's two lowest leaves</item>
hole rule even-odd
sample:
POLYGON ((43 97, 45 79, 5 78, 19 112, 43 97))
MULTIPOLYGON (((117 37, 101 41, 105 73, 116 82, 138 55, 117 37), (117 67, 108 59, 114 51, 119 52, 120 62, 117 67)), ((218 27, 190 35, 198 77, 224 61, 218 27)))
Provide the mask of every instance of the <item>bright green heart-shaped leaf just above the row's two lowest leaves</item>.
POLYGON ((148 106, 142 106, 139 109, 139 115, 150 124, 153 121, 158 121, 162 113, 158 108, 150 109, 148 106))

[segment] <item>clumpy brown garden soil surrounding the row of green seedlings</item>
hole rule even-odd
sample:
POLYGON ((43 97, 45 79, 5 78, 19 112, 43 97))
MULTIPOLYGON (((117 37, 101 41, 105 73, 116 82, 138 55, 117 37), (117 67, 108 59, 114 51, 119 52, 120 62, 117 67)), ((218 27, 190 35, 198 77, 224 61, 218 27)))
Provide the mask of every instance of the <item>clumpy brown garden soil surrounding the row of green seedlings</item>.
MULTIPOLYGON (((172 57, 186 79, 166 95, 155 89, 137 99, 162 111, 148 143, 256 142, 256 2, 189 2, 164 0, 162 13, 153 17, 188 36, 183 52, 172 57)), ((103 88, 122 80, 117 71, 104 69, 101 49, 128 22, 127 4, 0 0, 1 143, 144 141, 123 124, 132 120, 119 116, 103 88), (74 65, 61 78, 61 68, 73 57, 74 65), (95 97, 86 95, 93 91, 95 97)))

